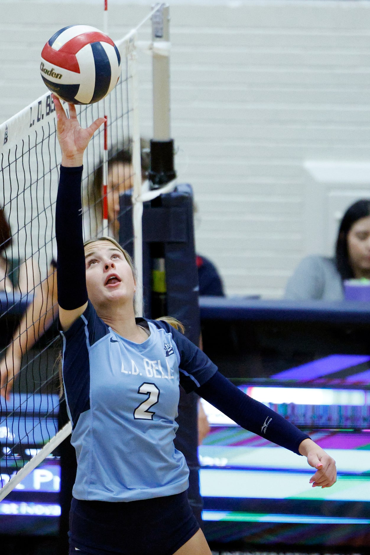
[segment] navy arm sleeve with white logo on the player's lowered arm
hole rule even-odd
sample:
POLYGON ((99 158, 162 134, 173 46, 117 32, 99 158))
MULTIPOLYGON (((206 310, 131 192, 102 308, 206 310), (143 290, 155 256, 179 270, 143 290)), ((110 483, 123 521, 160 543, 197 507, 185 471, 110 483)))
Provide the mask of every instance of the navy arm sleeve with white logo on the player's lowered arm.
POLYGON ((195 392, 242 428, 257 433, 297 455, 300 455, 300 443, 310 437, 271 408, 245 395, 220 372, 216 372, 195 392))

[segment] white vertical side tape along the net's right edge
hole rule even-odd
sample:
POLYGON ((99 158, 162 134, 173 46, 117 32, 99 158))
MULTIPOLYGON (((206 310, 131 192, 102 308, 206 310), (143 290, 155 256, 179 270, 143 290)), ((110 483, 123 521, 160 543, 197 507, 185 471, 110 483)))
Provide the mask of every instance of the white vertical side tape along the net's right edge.
POLYGON ((135 47, 135 35, 129 43, 129 68, 131 73, 132 94, 132 163, 134 170, 133 203, 133 231, 134 231, 134 262, 136 266, 136 314, 143 316, 143 201, 141 200, 141 144, 139 122, 139 80, 138 59, 135 47))

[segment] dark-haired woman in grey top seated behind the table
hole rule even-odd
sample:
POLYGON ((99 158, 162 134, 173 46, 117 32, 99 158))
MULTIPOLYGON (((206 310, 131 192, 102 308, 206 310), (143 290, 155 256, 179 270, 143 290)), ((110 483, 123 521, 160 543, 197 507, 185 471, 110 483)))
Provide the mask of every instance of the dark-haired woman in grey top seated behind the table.
POLYGON ((288 280, 285 299, 344 300, 343 281, 370 279, 370 199, 361 199, 344 214, 333 258, 307 256, 288 280))

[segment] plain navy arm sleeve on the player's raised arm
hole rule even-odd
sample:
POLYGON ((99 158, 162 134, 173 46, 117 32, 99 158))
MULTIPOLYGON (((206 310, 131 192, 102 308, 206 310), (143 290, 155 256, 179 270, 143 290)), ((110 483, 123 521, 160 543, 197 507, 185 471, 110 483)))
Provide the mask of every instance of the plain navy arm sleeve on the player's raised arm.
POLYGON ((83 166, 60 166, 55 234, 58 248, 58 304, 65 310, 78 309, 88 300, 82 236, 82 170, 83 166))

